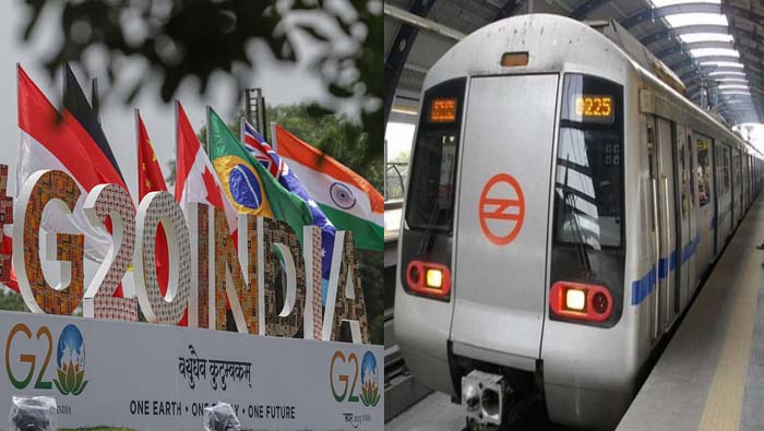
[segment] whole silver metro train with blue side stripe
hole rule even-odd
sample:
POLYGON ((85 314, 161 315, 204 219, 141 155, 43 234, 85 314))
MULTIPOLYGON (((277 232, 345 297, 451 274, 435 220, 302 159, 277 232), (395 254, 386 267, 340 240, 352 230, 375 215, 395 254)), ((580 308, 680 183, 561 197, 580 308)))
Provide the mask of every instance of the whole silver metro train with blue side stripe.
MULTIPOLYGON (((681 88, 680 88, 681 89, 681 88)), ((398 244, 406 366, 473 429, 617 426, 762 154, 592 26, 487 25, 429 71, 398 244)))

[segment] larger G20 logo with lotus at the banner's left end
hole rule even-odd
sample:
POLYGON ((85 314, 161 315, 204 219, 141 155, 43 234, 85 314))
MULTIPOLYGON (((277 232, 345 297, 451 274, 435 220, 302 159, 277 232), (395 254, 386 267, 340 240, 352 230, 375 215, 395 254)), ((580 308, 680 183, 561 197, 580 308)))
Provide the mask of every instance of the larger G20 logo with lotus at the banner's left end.
POLYGON ((85 380, 85 342, 82 333, 76 326, 69 324, 63 327, 59 335, 56 348, 56 363, 58 364, 57 379, 46 380, 45 374, 53 354, 53 337, 48 326, 40 326, 33 337, 33 332, 25 323, 15 324, 8 333, 5 340, 5 372, 13 387, 17 390, 26 388, 32 379, 37 375, 33 388, 51 390, 53 384, 62 395, 80 395, 85 391, 87 381, 85 380), (22 347, 23 346, 23 347, 22 347), (44 354, 39 354, 43 348, 44 354), (22 350, 17 357, 15 354, 22 350), (19 373, 19 367, 11 367, 11 359, 19 358, 17 363, 22 363, 22 369, 26 371, 19 373), (37 360, 41 359, 41 363, 37 360), (39 363, 39 369, 37 364, 39 363), (14 372, 15 369, 15 372, 14 372))

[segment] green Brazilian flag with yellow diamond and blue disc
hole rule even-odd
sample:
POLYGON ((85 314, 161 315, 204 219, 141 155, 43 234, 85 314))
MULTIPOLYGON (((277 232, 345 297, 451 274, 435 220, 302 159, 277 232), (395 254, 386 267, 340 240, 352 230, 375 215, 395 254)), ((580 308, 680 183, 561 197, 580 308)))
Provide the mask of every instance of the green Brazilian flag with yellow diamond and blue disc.
POLYGON ((210 159, 236 209, 286 222, 302 242, 302 227, 313 224, 308 204, 282 187, 212 108, 207 133, 210 159))

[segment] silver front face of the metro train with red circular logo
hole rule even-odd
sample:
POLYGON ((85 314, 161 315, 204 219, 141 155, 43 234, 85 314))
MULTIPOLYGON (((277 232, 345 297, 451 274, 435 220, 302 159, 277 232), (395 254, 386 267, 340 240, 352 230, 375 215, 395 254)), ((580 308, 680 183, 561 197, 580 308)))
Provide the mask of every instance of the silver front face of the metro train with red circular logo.
POLYGON ((414 375, 477 428, 539 397, 554 421, 612 427, 631 399, 628 64, 581 23, 524 15, 469 35, 428 73, 395 334, 414 375))

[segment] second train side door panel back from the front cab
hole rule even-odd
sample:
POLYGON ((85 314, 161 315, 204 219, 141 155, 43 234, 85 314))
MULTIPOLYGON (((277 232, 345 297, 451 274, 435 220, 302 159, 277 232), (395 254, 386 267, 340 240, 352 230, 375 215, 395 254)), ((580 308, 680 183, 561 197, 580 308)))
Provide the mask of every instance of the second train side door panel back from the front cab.
POLYGON ((677 274, 679 277, 680 308, 690 300, 690 274, 688 258, 690 251, 690 171, 688 169, 687 131, 683 125, 675 125, 677 184, 675 185, 679 206, 679 229, 677 229, 677 274))

